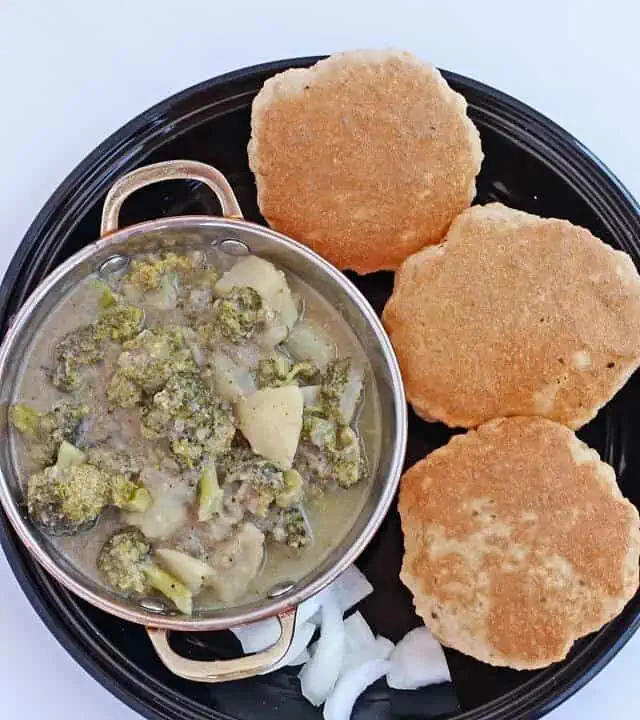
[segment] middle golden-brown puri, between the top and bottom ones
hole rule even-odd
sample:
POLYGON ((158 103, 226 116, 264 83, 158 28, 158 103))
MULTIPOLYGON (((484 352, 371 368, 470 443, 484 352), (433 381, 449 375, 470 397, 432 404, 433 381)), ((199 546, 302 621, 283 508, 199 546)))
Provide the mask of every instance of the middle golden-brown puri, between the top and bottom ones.
POLYGON ((383 320, 424 419, 543 415, 579 428, 640 363, 640 277, 588 230, 475 206, 408 258, 383 320))

